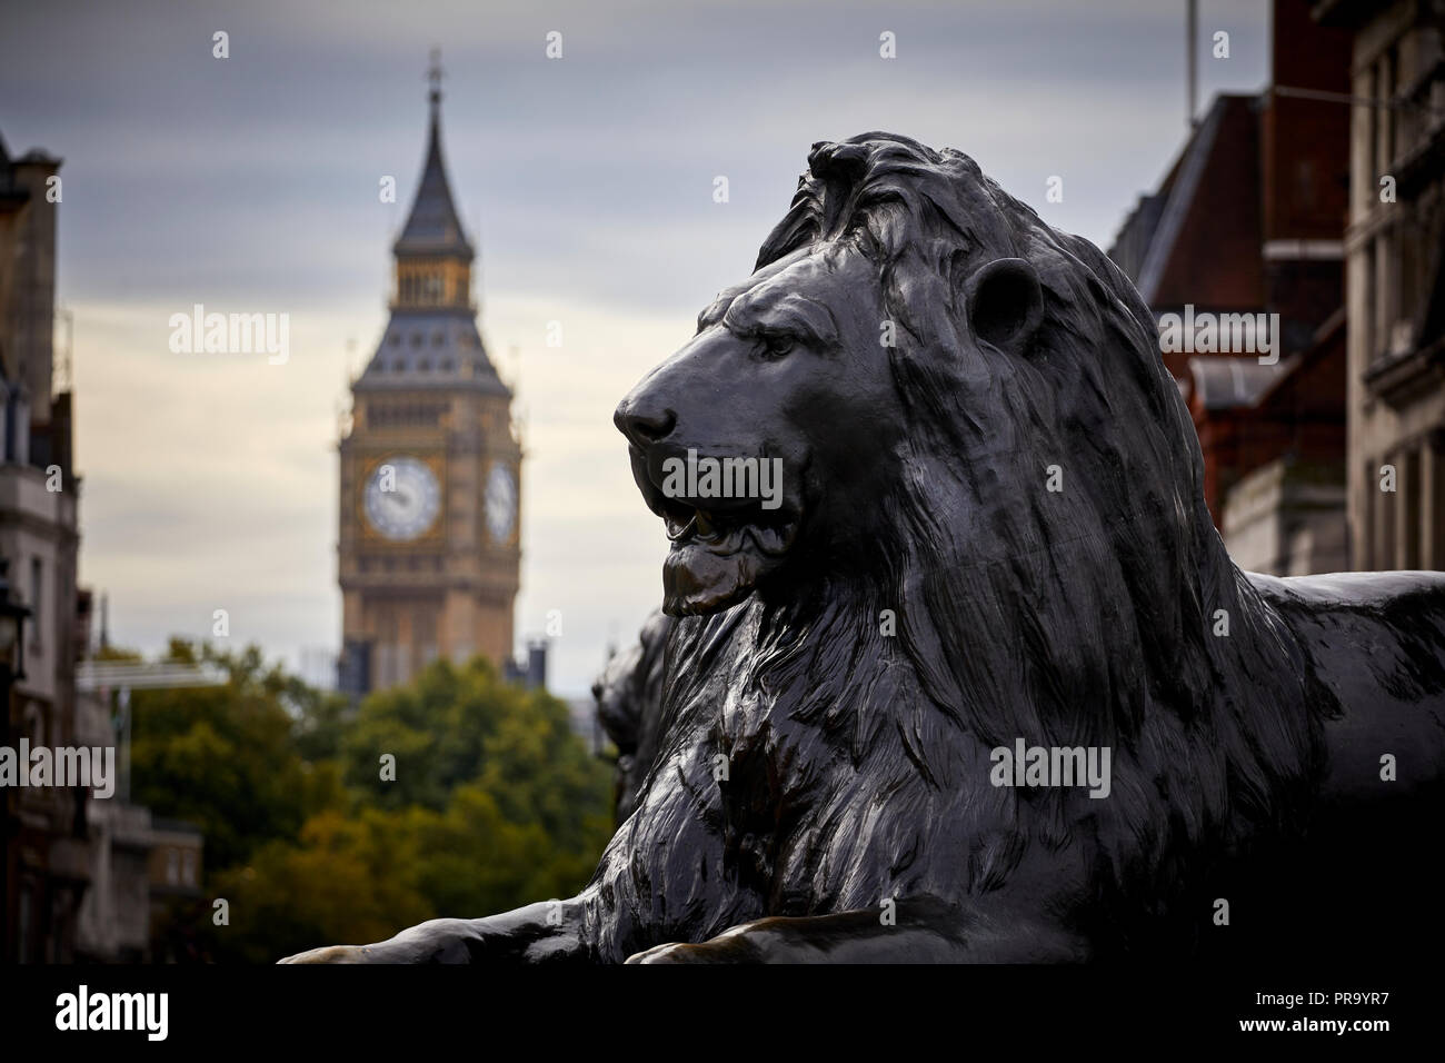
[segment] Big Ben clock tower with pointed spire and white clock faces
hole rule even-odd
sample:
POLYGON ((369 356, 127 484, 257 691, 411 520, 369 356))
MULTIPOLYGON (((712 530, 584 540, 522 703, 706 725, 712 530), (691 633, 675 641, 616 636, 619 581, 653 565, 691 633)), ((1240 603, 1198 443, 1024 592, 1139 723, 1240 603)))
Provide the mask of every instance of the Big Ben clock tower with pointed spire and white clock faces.
POLYGON ((477 331, 471 243, 447 182, 434 62, 422 182, 392 253, 392 320, 351 385, 341 451, 341 686, 436 657, 512 658, 522 447, 477 331))

